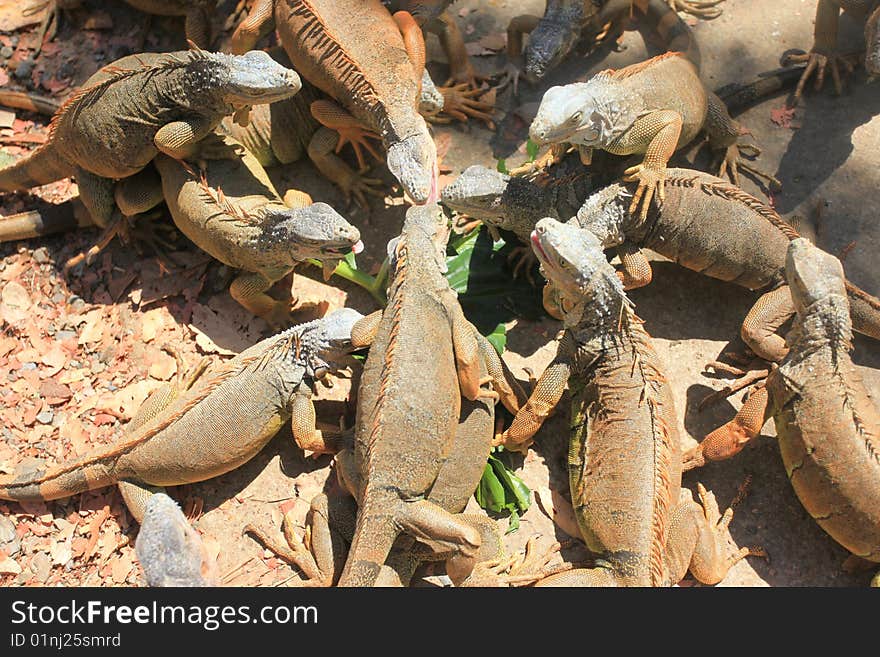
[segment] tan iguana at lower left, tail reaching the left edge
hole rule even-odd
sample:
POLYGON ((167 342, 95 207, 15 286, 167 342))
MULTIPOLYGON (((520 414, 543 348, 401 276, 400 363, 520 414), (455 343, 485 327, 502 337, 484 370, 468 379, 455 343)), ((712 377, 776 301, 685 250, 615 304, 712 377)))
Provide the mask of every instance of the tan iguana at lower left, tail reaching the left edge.
POLYGON ((305 448, 327 444, 315 428, 311 388, 354 350, 360 313, 344 308, 257 343, 209 375, 160 388, 122 439, 76 460, 0 476, 0 499, 56 500, 116 484, 141 522, 156 487, 204 481, 256 455, 290 420, 305 448))

